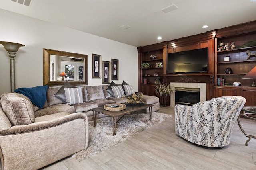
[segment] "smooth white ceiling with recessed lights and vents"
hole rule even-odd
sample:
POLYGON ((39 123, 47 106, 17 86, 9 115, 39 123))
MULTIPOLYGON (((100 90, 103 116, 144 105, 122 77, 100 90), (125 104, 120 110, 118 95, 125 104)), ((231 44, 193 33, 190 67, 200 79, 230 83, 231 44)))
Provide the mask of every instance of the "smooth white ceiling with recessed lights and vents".
POLYGON ((0 8, 135 47, 256 20, 256 0, 32 0, 29 6, 13 1, 0 0, 0 8), (176 10, 162 11, 173 4, 176 10))

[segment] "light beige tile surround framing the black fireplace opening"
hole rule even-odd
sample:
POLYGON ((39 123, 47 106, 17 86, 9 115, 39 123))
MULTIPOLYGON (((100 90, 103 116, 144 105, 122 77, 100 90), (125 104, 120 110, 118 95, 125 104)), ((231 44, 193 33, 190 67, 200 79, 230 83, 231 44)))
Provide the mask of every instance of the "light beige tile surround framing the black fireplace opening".
MULTIPOLYGON (((206 83, 177 83, 177 82, 170 82, 170 84, 174 85, 174 87, 181 87, 181 88, 199 88, 199 102, 206 101, 206 83)), ((170 106, 175 106, 175 93, 170 95, 170 106)))

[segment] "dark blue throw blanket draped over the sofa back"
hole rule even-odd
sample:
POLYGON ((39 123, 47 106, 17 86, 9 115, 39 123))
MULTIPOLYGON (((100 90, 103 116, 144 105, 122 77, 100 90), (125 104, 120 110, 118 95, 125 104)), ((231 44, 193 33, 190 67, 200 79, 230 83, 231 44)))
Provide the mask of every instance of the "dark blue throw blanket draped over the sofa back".
POLYGON ((36 86, 31 88, 22 87, 22 88, 17 88, 16 90, 14 90, 14 92, 27 96, 34 105, 36 105, 39 109, 42 109, 46 102, 47 89, 48 89, 47 85, 36 86))

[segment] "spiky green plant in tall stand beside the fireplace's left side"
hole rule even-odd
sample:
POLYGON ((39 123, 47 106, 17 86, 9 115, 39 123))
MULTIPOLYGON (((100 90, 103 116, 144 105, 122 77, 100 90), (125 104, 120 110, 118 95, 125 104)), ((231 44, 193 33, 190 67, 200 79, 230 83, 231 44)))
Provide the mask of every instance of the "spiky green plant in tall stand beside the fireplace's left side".
POLYGON ((172 84, 164 85, 160 84, 159 86, 155 87, 156 94, 162 96, 164 107, 167 107, 167 98, 175 91, 175 88, 172 84))

